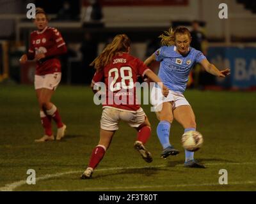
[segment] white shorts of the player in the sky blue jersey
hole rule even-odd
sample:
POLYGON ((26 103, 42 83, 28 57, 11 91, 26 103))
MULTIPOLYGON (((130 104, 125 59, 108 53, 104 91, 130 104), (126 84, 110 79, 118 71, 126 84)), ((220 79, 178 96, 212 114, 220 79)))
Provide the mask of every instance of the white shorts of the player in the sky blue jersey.
POLYGON ((183 94, 169 90, 168 96, 163 96, 161 88, 154 86, 150 95, 150 101, 153 105, 153 110, 159 112, 162 110, 164 102, 173 102, 172 109, 174 110, 178 106, 189 105, 187 99, 183 94))

